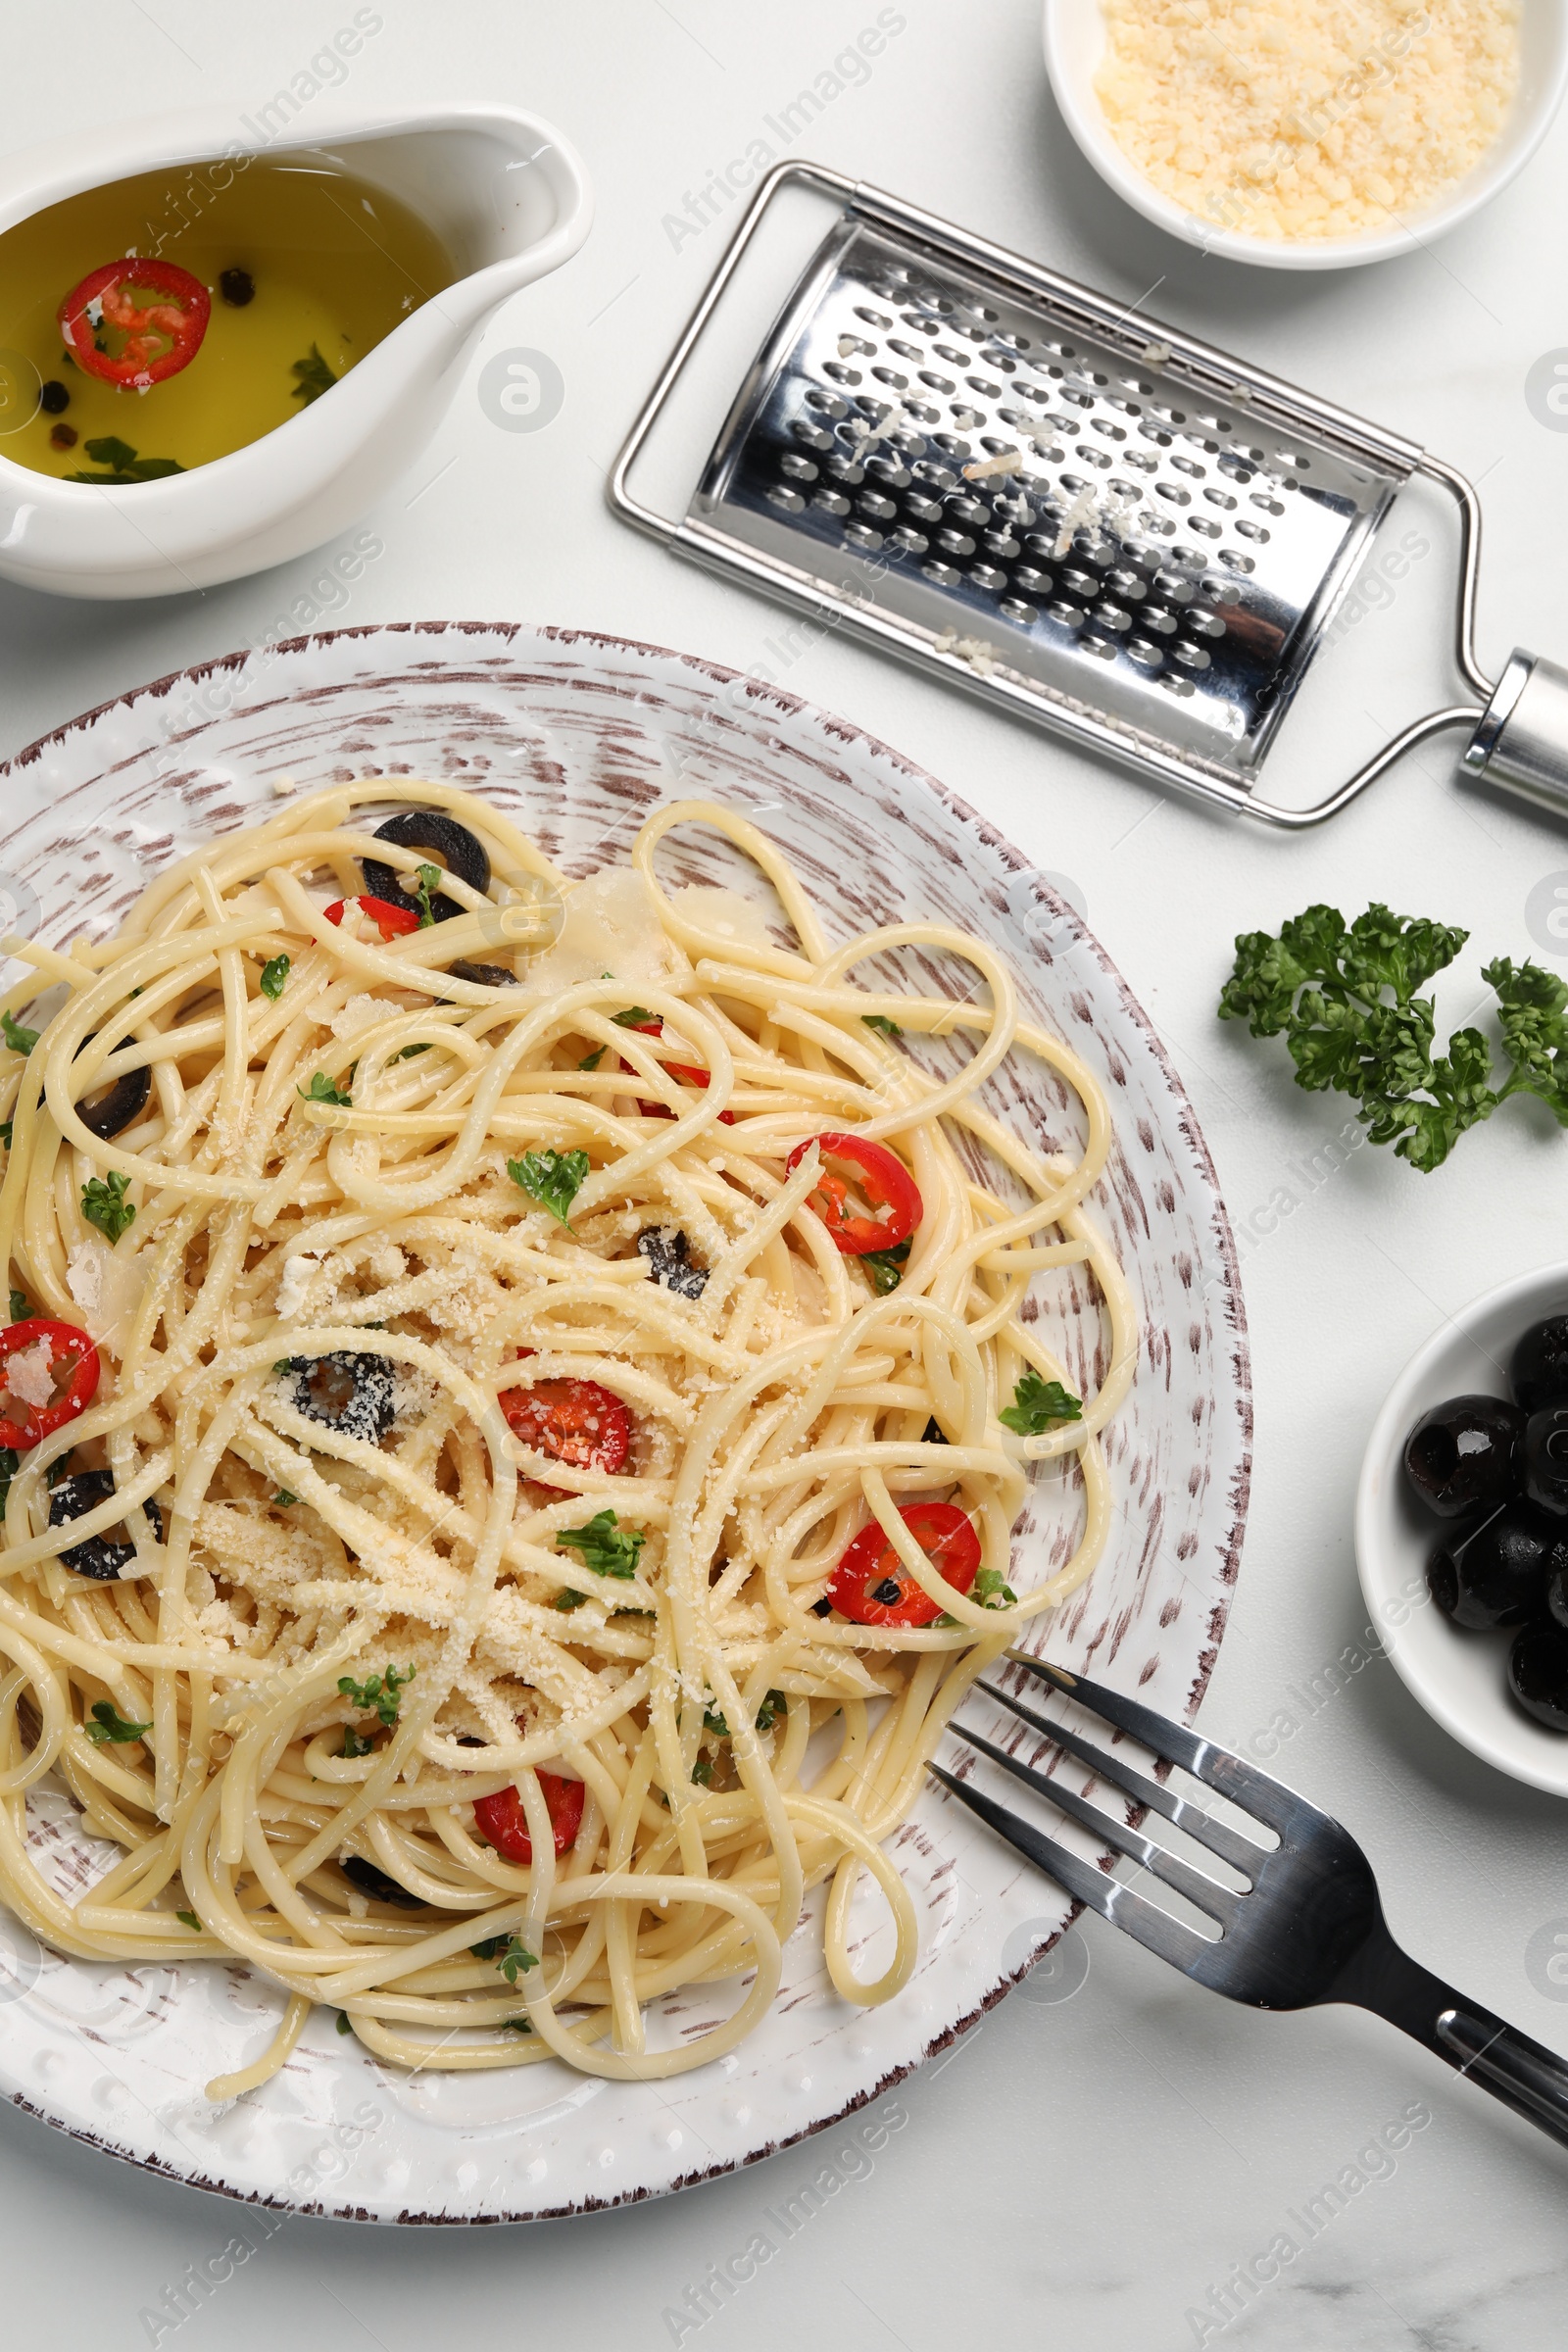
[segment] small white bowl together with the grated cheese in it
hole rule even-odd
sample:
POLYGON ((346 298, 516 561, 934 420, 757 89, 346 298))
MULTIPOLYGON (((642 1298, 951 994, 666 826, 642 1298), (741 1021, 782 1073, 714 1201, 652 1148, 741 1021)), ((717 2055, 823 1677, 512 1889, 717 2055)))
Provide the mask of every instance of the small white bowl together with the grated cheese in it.
POLYGON ((1568 0, 1046 0, 1046 71, 1100 179, 1227 261, 1415 252, 1530 160, 1568 0))

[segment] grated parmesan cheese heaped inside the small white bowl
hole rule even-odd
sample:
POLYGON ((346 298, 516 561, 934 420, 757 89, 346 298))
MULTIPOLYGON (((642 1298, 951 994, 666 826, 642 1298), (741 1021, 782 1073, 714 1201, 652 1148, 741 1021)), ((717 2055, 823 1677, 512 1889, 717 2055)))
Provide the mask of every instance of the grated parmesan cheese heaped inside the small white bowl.
POLYGON ((1105 120, 1161 195, 1253 238, 1354 238, 1481 162, 1519 0, 1103 0, 1105 120))

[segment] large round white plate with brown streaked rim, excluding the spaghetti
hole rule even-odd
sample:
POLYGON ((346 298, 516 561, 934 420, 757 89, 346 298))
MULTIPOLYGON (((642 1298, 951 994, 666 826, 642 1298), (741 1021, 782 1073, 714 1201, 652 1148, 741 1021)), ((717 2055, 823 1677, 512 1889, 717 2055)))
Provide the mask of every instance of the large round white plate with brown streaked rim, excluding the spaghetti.
MULTIPOLYGON (((1190 1715, 1225 1625, 1246 1508, 1237 1263, 1192 1105, 1154 1030, 1039 875, 905 760, 785 694, 649 647, 475 623, 343 630, 233 656, 78 720, 5 771, 7 807, 26 821, 0 842, 0 896, 24 917, 38 908, 42 938, 106 931, 172 856, 275 809, 280 771, 301 786, 383 774, 393 800, 400 774, 461 781, 571 873, 623 856, 656 802, 708 793, 788 847, 830 931, 914 908, 1009 955, 1034 1018, 1107 1082, 1117 1155, 1093 1209, 1145 1322, 1107 1446, 1117 1534, 1039 1639, 1053 1658, 1093 1663, 1190 1715)), ((748 887, 705 833, 672 844, 670 875, 748 887)), ((1004 1108, 1044 1136, 1072 1127, 1041 1073, 1020 1073, 1004 1108)), ((1077 1277, 1044 1319, 1093 1378, 1100 1315, 1077 1277)), ((1067 1515, 1041 1486, 1016 1555, 1027 1583, 1065 1541, 1067 1515)), ((61 1886, 96 1867, 59 1795, 35 1795, 33 1837, 61 1886)), ((59 1962, 16 1929, 9 1976, 0 1950, 0 2084, 120 2157, 266 2204, 498 2220, 658 2194, 877 2096, 1023 1976, 1070 1917, 1065 1896, 936 1788, 893 1851, 922 1912, 922 1959, 900 1999, 872 2011, 839 2002, 813 1905, 788 1943, 769 2020, 731 2058, 658 2086, 588 2082, 555 2063, 411 2079, 339 2039, 317 2011, 280 2077, 212 2110, 202 2082, 261 2053, 280 1992, 240 1966, 59 1962)), ((875 1973, 889 1931, 879 1898, 863 1900, 860 1966, 875 1973)), ((651 2030, 696 2032, 736 1997, 672 1997, 651 2030)))

